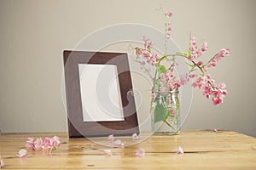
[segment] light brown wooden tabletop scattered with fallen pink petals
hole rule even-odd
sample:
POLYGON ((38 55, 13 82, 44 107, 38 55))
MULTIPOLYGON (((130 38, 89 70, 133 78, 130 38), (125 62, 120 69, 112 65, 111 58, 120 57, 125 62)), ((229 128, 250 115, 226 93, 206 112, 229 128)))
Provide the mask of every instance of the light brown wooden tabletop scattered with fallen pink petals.
POLYGON ((256 169, 256 139, 241 133, 183 130, 172 136, 141 134, 137 144, 131 137, 115 139, 121 139, 125 147, 106 146, 112 144, 107 137, 91 141, 68 139, 67 133, 2 133, 1 155, 4 169, 256 169), (27 137, 54 135, 63 144, 51 155, 26 149, 26 158, 16 156, 25 148, 27 137), (177 154, 178 146, 183 154, 177 154), (138 148, 146 155, 135 156, 138 148), (106 149, 112 150, 113 156, 105 156, 106 149))

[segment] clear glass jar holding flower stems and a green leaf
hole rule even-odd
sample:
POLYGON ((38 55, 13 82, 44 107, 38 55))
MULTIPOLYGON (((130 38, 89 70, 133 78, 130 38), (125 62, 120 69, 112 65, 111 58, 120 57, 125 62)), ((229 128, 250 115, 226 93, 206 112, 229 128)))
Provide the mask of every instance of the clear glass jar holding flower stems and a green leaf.
POLYGON ((151 101, 151 127, 154 134, 178 134, 180 105, 178 90, 156 91, 151 101))

